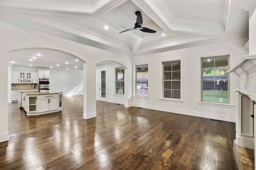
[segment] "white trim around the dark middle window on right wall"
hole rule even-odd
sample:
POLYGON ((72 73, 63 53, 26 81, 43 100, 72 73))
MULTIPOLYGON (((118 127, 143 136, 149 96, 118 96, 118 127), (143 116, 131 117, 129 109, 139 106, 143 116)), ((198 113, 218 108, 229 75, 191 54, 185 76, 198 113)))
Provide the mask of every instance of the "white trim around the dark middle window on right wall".
POLYGON ((167 102, 184 102, 184 96, 183 96, 183 91, 184 91, 184 84, 183 84, 183 57, 181 58, 175 58, 175 59, 169 59, 169 60, 160 60, 159 61, 159 71, 160 71, 160 80, 159 82, 161 82, 161 98, 159 98, 159 100, 161 101, 167 101, 167 102), (180 99, 174 99, 174 98, 164 98, 163 97, 163 88, 164 88, 164 84, 163 84, 163 63, 165 62, 171 62, 171 61, 179 61, 180 60, 180 99))

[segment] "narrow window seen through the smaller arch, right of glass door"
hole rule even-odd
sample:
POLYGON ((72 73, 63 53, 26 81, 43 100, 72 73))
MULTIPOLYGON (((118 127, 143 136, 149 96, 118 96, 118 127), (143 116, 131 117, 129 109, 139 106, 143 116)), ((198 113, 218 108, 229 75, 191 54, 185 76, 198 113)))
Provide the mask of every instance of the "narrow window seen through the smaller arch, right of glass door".
POLYGON ((116 94, 124 94, 124 69, 116 68, 116 94))

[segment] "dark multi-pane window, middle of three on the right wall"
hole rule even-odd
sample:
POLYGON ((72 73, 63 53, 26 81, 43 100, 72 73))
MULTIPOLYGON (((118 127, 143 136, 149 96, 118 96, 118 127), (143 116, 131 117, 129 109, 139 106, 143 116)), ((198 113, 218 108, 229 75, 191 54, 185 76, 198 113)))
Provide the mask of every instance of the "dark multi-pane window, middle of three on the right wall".
POLYGON ((180 61, 163 63, 163 96, 180 99, 180 61))

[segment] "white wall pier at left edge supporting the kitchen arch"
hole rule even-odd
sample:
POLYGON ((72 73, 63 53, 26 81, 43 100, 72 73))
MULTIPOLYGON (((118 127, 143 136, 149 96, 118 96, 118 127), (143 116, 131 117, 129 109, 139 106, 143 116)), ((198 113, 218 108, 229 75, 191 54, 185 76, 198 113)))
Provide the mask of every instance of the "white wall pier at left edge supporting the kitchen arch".
MULTIPOLYGON (((2 48, 4 49, 4 48, 2 48)), ((8 133, 8 51, 0 50, 1 63, 0 63, 0 142, 9 140, 8 133)))

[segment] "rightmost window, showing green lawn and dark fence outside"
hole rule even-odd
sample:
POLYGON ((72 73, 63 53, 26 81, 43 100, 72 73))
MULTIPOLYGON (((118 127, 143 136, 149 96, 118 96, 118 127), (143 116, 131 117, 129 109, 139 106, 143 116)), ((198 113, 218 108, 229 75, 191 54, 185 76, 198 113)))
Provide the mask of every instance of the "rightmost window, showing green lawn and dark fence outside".
POLYGON ((202 102, 229 103, 228 57, 202 58, 202 102))

